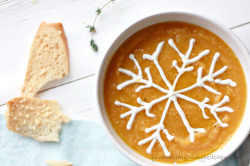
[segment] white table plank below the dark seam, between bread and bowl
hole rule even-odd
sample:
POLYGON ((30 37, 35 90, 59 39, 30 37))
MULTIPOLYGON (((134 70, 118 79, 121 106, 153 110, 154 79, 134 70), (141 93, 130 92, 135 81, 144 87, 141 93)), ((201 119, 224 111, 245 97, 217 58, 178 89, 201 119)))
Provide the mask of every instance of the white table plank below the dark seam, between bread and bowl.
MULTIPOLYGON (((94 83, 95 76, 90 76, 70 84, 46 90, 39 93, 37 97, 46 100, 57 100, 62 111, 71 119, 97 121, 99 116, 96 104, 94 104, 94 83)), ((0 106, 0 116, 5 111, 6 105, 0 106)))

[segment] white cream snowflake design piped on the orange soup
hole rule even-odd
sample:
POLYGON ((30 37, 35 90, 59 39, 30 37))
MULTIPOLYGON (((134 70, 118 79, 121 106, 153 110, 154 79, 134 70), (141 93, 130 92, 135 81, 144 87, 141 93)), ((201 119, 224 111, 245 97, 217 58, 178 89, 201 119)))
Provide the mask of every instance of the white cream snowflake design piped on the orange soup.
POLYGON ((214 54, 214 57, 213 57, 213 60, 212 60, 212 63, 211 63, 208 75, 202 76, 202 69, 203 68, 200 67, 198 69, 198 72, 197 72, 198 74, 197 74, 197 80, 196 80, 195 84, 193 84, 193 85, 191 85, 191 86, 189 86, 187 88, 175 91, 175 87, 176 87, 176 84, 178 83, 179 78, 184 73, 190 72, 190 71, 192 71, 194 69, 193 66, 189 66, 189 67, 187 67, 187 66, 190 65, 190 64, 193 64, 194 62, 198 61, 202 57, 208 55, 209 52, 210 52, 209 50, 204 50, 201 53, 199 53, 196 57, 189 59, 189 56, 190 56, 190 54, 192 52, 194 43, 195 43, 195 40, 191 39, 190 43, 189 43, 189 48, 188 48, 187 52, 185 54, 182 54, 179 51, 179 49, 176 47, 173 39, 169 39, 168 40, 168 44, 179 54, 179 56, 180 56, 180 58, 182 59, 182 62, 183 62, 183 64, 182 64, 181 67, 179 67, 177 65, 177 61, 176 60, 174 60, 172 62, 173 67, 175 67, 175 69, 178 72, 178 75, 176 76, 176 78, 175 78, 175 80, 173 82, 173 85, 171 85, 171 83, 166 78, 166 76, 164 74, 164 71, 162 70, 162 68, 161 68, 161 66, 159 65, 159 62, 158 62, 158 56, 159 56, 159 54, 160 54, 160 52, 162 50, 162 47, 164 45, 164 41, 160 42, 158 44, 155 52, 152 55, 149 55, 149 54, 144 54, 143 55, 143 59, 144 60, 150 60, 150 61, 154 62, 155 66, 157 67, 157 69, 159 71, 159 74, 160 74, 161 78, 163 79, 163 81, 167 85, 168 89, 164 89, 164 88, 160 87, 159 85, 157 85, 157 84, 155 84, 153 82, 149 68, 145 68, 145 72, 147 74, 148 79, 144 79, 143 76, 142 76, 142 69, 141 69, 138 61, 135 59, 135 57, 134 57, 133 54, 130 54, 129 58, 132 61, 134 61, 135 65, 136 65, 136 67, 138 69, 138 73, 135 74, 132 71, 129 71, 129 70, 126 70, 126 69, 122 69, 122 68, 118 69, 119 72, 124 73, 124 74, 132 77, 132 79, 127 80, 127 81, 119 84, 117 86, 118 90, 121 90, 121 89, 123 89, 124 87, 126 87, 126 86, 128 86, 130 84, 140 83, 142 85, 140 85, 135 90, 135 92, 139 92, 140 90, 145 89, 145 88, 155 88, 155 89, 158 89, 159 91, 161 91, 161 92, 164 93, 164 96, 162 96, 160 98, 157 98, 155 100, 152 100, 149 103, 142 101, 141 98, 138 97, 137 98, 137 103, 141 105, 139 107, 132 106, 132 105, 129 105, 129 104, 126 104, 126 103, 122 103, 122 102, 119 102, 119 101, 115 101, 115 105, 117 105, 117 106, 123 106, 123 107, 126 107, 126 108, 129 109, 129 111, 127 111, 126 113, 121 114, 121 116, 120 116, 121 118, 130 116, 130 119, 129 119, 128 123, 127 123, 127 129, 128 130, 131 129, 132 124, 134 122, 134 119, 135 119, 137 113, 139 113, 141 111, 145 111, 145 113, 146 113, 146 115, 148 117, 155 117, 154 114, 150 113, 151 108, 155 104, 157 104, 157 103, 159 103, 161 101, 167 100, 166 106, 165 106, 165 108, 163 110, 160 122, 157 125, 155 125, 155 126, 151 126, 150 128, 146 128, 145 129, 146 133, 149 133, 151 131, 155 131, 155 132, 151 136, 149 136, 149 137, 147 137, 147 138, 145 138, 145 139, 143 139, 143 140, 141 140, 141 141, 138 142, 138 145, 143 145, 143 144, 146 144, 146 143, 148 143, 148 142, 151 141, 149 147, 146 150, 147 153, 151 153, 153 146, 155 145, 156 141, 158 141, 160 143, 160 145, 162 146, 164 154, 166 156, 170 156, 170 152, 166 148, 166 145, 165 145, 164 141, 161 138, 160 132, 162 131, 163 133, 165 133, 166 137, 167 137, 167 139, 169 141, 172 141, 174 139, 174 136, 170 135, 168 133, 168 130, 163 125, 163 122, 165 120, 165 117, 166 117, 166 114, 168 112, 168 109, 169 109, 169 106, 170 106, 171 102, 173 102, 173 104, 174 104, 174 106, 175 106, 178 114, 181 116, 183 124, 185 125, 185 127, 186 127, 186 129, 187 129, 187 131, 189 133, 189 138, 190 138, 191 142, 194 142, 195 133, 204 133, 204 132, 206 132, 206 130, 204 128, 193 128, 193 127, 190 126, 188 120, 186 119, 185 113, 183 112, 181 106, 178 103, 178 98, 187 100, 187 101, 189 101, 191 103, 194 103, 197 106, 199 106, 200 109, 201 109, 201 111, 202 111, 202 115, 203 115, 204 119, 208 119, 209 118, 206 115, 206 113, 205 113, 205 108, 207 108, 208 110, 210 110, 210 113, 215 117, 215 119, 217 120, 217 123, 219 123, 219 125, 221 127, 227 127, 228 126, 227 123, 223 123, 220 120, 220 118, 217 116, 217 112, 225 112, 225 111, 227 111, 227 112, 233 112, 234 111, 230 107, 222 106, 226 102, 229 102, 229 97, 228 96, 224 96, 223 99, 219 103, 214 104, 214 105, 210 105, 210 104, 208 104, 209 98, 207 98, 207 97, 204 98, 203 101, 197 101, 197 100, 195 100, 195 99, 193 99, 191 97, 188 97, 188 96, 182 94, 183 92, 192 90, 192 89, 197 88, 197 87, 203 87, 206 90, 208 90, 209 92, 214 93, 216 95, 220 95, 221 94, 220 92, 216 91, 212 87, 206 85, 205 82, 214 82, 215 84, 229 85, 229 86, 232 86, 232 87, 235 87, 237 85, 231 79, 226 79, 226 80, 215 79, 216 77, 218 77, 219 75, 221 75, 222 73, 224 73, 227 70, 227 66, 224 66, 221 69, 219 69, 218 71, 214 71, 215 64, 216 64, 216 61, 218 60, 218 58, 220 56, 220 53, 217 52, 217 53, 214 54))

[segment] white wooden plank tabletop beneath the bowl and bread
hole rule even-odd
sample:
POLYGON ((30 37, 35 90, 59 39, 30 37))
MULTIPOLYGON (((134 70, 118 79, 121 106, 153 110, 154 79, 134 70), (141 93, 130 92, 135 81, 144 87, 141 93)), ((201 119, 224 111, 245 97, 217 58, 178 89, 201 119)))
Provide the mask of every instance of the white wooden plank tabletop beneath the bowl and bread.
POLYGON ((90 46, 86 25, 107 0, 0 0, 0 113, 20 95, 31 43, 42 21, 62 22, 70 51, 70 75, 38 94, 56 99, 72 119, 95 120, 95 73, 111 42, 129 25, 165 11, 189 11, 215 18, 231 28, 250 49, 250 0, 116 0, 96 24, 99 52, 90 46))

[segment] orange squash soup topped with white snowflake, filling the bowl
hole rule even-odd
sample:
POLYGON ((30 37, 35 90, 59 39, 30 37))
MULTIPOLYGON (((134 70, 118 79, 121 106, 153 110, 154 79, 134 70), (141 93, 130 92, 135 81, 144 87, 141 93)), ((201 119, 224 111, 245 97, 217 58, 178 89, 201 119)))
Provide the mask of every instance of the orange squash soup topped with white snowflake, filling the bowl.
POLYGON ((166 22, 129 37, 104 82, 117 134, 153 161, 184 163, 222 147, 244 114, 246 80, 239 60, 214 33, 166 22))

